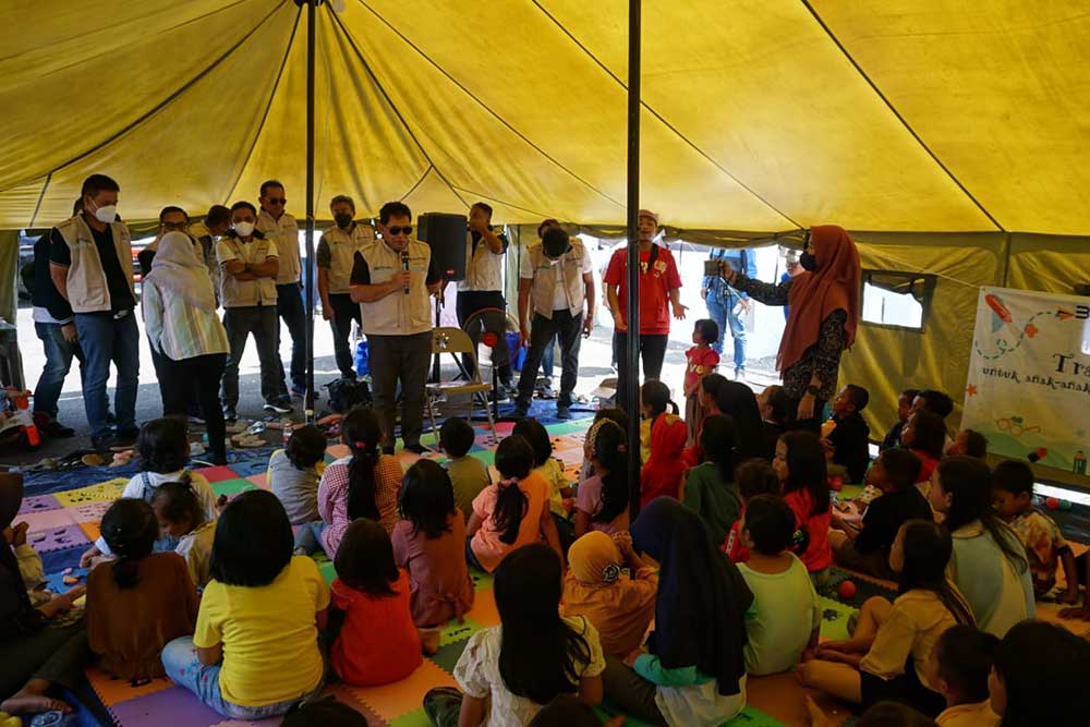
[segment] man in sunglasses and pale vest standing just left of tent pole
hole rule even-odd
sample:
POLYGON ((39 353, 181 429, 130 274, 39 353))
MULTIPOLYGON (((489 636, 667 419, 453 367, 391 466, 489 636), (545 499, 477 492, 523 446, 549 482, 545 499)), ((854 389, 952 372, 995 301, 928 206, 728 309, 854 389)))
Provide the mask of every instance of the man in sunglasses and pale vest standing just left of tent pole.
MULTIPOLYGON (((306 307, 300 283, 303 262, 299 255, 299 222, 284 211, 288 197, 283 184, 275 179, 262 183, 257 201, 262 206, 257 231, 276 244, 280 257, 280 270, 276 276, 277 313, 291 335, 291 392, 301 397, 306 390, 306 307)), ((277 361, 280 360, 280 332, 277 328, 277 361)), ((283 362, 280 362, 280 380, 283 379, 283 362)), ((281 393, 288 393, 287 386, 281 393)))

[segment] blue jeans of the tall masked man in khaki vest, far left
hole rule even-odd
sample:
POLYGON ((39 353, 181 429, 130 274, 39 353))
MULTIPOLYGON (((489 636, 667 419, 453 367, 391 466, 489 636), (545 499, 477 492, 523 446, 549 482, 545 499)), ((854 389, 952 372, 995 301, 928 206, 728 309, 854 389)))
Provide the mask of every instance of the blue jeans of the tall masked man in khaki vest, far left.
POLYGON ((118 431, 136 428, 136 388, 140 386, 140 331, 136 314, 123 318, 109 313, 76 313, 75 329, 83 349, 86 371, 83 375, 83 403, 94 437, 107 433, 106 381, 110 363, 118 367, 118 386, 113 395, 113 411, 118 431))

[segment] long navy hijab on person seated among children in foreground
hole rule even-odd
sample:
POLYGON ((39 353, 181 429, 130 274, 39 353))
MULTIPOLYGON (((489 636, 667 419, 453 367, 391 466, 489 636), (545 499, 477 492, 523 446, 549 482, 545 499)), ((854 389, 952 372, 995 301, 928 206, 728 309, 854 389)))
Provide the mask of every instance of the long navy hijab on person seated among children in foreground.
POLYGON ((712 543, 700 516, 670 497, 643 509, 632 538, 659 562, 651 653, 668 669, 695 666, 716 680, 719 694, 739 693, 753 594, 738 568, 712 543))

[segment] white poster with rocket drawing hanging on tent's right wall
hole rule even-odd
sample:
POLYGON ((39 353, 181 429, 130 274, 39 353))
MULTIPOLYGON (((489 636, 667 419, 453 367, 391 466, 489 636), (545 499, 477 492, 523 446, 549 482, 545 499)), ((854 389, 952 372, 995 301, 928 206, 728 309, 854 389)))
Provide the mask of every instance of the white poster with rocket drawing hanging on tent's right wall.
POLYGON ((1090 299, 981 288, 962 426, 996 455, 1087 475, 1090 299))

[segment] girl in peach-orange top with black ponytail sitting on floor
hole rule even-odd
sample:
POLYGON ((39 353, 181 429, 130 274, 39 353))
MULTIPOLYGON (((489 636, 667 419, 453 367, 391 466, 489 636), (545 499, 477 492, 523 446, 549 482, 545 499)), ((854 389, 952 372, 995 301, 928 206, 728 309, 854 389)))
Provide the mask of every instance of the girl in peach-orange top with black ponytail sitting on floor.
POLYGON ((564 557, 548 510, 548 485, 533 467, 534 450, 524 437, 512 434, 496 447, 500 480, 473 500, 473 517, 467 528, 471 565, 491 573, 508 553, 537 543, 542 536, 564 557))

